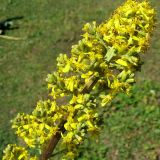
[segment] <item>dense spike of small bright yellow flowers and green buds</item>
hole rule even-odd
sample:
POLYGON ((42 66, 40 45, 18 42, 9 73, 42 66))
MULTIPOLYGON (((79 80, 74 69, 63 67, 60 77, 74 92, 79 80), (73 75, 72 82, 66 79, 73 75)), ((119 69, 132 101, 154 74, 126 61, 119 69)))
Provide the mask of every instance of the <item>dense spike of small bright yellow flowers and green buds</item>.
MULTIPOLYGON (((100 131, 99 108, 118 93, 129 93, 141 66, 140 53, 149 45, 154 16, 147 1, 127 0, 108 21, 84 26, 83 38, 72 46, 70 56, 60 54, 57 71, 47 77, 51 99, 38 102, 32 114, 18 114, 13 120, 16 134, 28 147, 39 148, 41 154, 51 137, 60 133, 66 149, 63 160, 74 159, 86 136, 100 131)), ((28 154, 12 148, 12 154, 28 154)))

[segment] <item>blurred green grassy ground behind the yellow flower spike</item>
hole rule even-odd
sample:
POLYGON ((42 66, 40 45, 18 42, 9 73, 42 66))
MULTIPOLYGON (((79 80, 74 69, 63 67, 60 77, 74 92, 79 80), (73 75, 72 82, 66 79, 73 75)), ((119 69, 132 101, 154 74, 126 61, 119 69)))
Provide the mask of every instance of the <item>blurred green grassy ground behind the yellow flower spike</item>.
MULTIPOLYGON (((87 140, 78 160, 156 160, 160 155, 160 1, 151 48, 130 97, 119 95, 104 115, 101 136, 87 140)), ((8 143, 17 141, 10 120, 31 112, 47 96, 46 75, 59 53, 69 53, 81 39, 86 22, 101 23, 124 0, 0 0, 0 20, 24 16, 19 29, 0 38, 0 159, 8 143)))

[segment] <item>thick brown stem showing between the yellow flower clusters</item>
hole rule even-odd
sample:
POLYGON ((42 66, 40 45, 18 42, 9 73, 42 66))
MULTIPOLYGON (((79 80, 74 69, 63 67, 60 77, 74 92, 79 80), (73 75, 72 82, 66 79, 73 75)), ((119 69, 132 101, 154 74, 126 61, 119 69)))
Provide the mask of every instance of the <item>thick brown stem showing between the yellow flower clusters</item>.
MULTIPOLYGON (((87 83, 83 90, 81 91, 81 93, 88 93, 89 91, 91 91, 91 89, 93 88, 93 86, 97 83, 98 78, 94 78, 94 76, 91 76, 90 78, 90 82, 87 83)), ((67 118, 66 118, 67 119, 67 118)), ((56 134, 54 134, 51 139, 49 140, 48 144, 46 145, 46 147, 44 148, 44 150, 42 151, 42 154, 40 156, 40 160, 48 160, 53 153, 53 150, 55 149, 56 145, 58 144, 59 140, 61 139, 61 133, 64 133, 66 130, 64 128, 64 124, 67 122, 67 120, 63 120, 60 124, 59 124, 59 131, 56 132, 56 134)))

